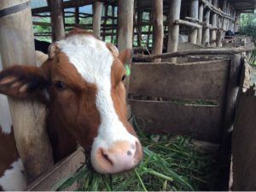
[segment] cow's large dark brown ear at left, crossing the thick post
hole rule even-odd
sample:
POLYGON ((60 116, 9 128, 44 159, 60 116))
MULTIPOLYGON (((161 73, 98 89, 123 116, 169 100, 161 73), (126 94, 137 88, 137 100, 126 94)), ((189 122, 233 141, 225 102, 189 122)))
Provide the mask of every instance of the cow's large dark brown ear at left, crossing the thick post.
POLYGON ((44 70, 33 66, 13 66, 0 73, 0 93, 25 98, 43 92, 49 86, 44 70))

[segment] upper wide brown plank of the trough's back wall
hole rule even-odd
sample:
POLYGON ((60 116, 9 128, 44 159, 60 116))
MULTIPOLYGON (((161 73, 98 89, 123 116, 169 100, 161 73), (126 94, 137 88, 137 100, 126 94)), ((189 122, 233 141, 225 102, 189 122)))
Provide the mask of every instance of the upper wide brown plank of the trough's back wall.
POLYGON ((229 60, 131 65, 130 94, 224 101, 229 60))

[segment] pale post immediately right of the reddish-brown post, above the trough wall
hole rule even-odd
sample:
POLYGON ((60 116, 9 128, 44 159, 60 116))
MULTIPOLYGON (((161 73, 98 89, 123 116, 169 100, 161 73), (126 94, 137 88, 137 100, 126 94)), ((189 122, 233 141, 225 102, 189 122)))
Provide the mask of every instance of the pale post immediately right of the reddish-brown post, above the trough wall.
MULTIPOLYGON (((168 21, 168 45, 167 52, 177 51, 179 26, 175 25, 175 20, 179 20, 181 0, 170 2, 169 21, 168 21)), ((170 58, 170 62, 176 63, 177 57, 170 58)))

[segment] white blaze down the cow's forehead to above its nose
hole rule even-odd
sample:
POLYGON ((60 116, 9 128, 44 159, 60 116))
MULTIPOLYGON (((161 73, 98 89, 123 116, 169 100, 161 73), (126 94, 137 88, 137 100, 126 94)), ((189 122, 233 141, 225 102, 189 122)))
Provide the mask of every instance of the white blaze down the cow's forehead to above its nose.
POLYGON ((111 97, 113 55, 106 44, 90 35, 71 36, 57 44, 84 80, 96 84, 97 87, 96 108, 101 116, 101 125, 92 151, 98 147, 108 148, 119 140, 135 144, 137 138, 125 129, 113 106, 111 97))

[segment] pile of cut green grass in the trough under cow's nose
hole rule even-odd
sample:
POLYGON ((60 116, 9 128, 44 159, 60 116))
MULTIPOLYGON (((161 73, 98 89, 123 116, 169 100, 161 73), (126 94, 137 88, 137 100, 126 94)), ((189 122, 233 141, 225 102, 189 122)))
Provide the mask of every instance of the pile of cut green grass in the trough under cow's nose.
MULTIPOLYGON (((137 125, 137 124, 135 124, 137 125)), ((53 190, 65 190, 74 182, 78 190, 158 191, 212 190, 217 178, 214 154, 202 154, 190 137, 168 137, 138 132, 143 144, 143 162, 131 172, 113 176, 81 166, 55 184, 53 190)))

